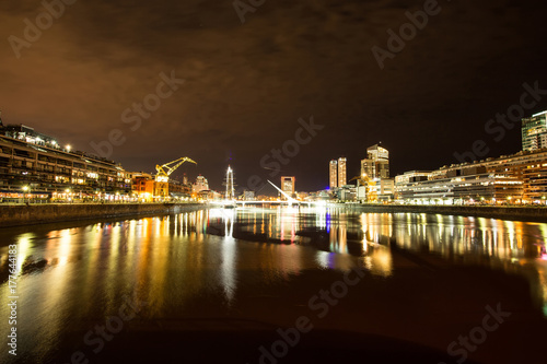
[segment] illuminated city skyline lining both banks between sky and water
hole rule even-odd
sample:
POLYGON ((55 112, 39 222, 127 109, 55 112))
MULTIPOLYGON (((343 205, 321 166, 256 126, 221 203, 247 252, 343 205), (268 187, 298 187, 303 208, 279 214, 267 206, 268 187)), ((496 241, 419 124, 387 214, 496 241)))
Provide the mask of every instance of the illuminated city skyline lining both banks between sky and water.
MULTIPOLYGON (((544 201, 547 164, 543 162, 545 150, 547 150, 547 111, 524 117, 521 124, 522 150, 519 153, 486 160, 463 161, 434 171, 407 169, 404 174, 393 177, 389 175, 389 151, 381 146, 381 143, 374 144, 366 149, 365 158, 361 160, 360 175, 350 179, 350 181, 357 179, 357 189, 347 183, 347 158, 341 156, 329 162, 329 188, 326 190, 330 191, 331 198, 336 197, 341 201, 375 202, 382 200, 400 203, 412 200, 418 203, 423 201, 454 203, 455 199, 452 196, 457 196, 461 202, 466 198, 490 201, 490 203, 505 200, 505 198, 513 198, 519 203, 521 200, 523 203, 544 201)), ((62 145, 55 138, 36 131, 32 127, 3 125, 1 117, 0 139, 2 139, 1 152, 5 155, 1 157, 2 171, 5 175, 0 180, 0 185, 7 188, 3 192, 21 193, 34 189, 35 193, 60 193, 67 198, 71 196, 68 191, 79 190, 80 199, 83 192, 85 198, 92 198, 90 193, 94 195, 93 198, 104 193, 109 199, 133 199, 138 195, 138 198, 143 200, 163 200, 170 196, 171 198, 189 198, 190 193, 193 198, 217 199, 222 195, 209 188, 208 180, 201 174, 196 177, 194 184, 188 183, 186 173, 183 173, 182 183, 179 178, 177 180, 177 178, 168 177, 185 162, 196 164, 188 157, 179 157, 156 165, 158 174, 154 177, 153 173, 130 172, 124 169, 121 164, 115 161, 73 150, 68 144, 62 145), (40 146, 47 148, 49 152, 40 146), (50 155, 36 153, 36 151, 50 155), (94 161, 91 162, 88 158, 94 161), (54 164, 50 163, 51 161, 54 164), (170 180, 168 184, 167 180, 170 180)), ((480 151, 474 149, 473 152, 479 153, 480 151)), ((473 156, 473 153, 466 152, 462 154, 462 157, 469 157, 469 155, 473 156)), ((243 186, 241 191, 235 190, 233 169, 229 165, 226 171, 223 184, 226 186, 224 193, 226 200, 234 199, 235 192, 240 196, 244 196, 245 191, 252 191, 253 196, 255 192, 256 195, 260 192, 259 186, 255 186, 258 187, 256 190, 249 189, 248 185, 243 186), (231 183, 229 184, 228 180, 231 183)), ((294 180, 294 176, 282 176, 281 189, 275 188, 279 191, 283 190, 288 193, 286 196, 304 192, 303 196, 306 197, 307 192, 312 192, 315 197, 325 197, 323 193, 325 191, 296 191, 294 180)))

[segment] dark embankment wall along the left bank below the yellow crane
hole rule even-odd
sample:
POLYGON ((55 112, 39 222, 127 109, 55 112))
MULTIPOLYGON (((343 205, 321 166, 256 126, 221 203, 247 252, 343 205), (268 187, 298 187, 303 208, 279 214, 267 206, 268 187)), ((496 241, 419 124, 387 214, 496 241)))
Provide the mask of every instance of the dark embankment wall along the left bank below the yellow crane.
POLYGON ((0 227, 177 213, 199 210, 206 207, 202 203, 48 203, 0 206, 0 227))

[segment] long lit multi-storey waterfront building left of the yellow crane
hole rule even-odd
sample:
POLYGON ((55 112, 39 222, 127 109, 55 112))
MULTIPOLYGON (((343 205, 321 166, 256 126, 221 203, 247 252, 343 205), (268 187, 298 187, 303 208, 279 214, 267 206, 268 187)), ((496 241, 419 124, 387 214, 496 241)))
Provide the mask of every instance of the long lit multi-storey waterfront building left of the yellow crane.
POLYGON ((0 124, 0 197, 116 200, 130 196, 131 176, 120 164, 61 146, 24 125, 0 124))

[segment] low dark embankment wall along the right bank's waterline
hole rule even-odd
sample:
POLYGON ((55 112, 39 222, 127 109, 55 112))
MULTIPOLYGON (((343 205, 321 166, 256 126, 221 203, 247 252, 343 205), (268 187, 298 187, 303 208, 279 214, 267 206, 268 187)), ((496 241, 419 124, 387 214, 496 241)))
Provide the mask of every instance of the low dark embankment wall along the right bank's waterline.
POLYGON ((340 204, 362 212, 410 212, 547 222, 546 207, 340 204))

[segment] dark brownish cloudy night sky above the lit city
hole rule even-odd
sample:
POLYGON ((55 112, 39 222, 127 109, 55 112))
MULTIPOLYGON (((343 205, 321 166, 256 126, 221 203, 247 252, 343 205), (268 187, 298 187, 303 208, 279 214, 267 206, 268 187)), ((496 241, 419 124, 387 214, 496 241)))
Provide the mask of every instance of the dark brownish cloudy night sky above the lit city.
MULTIPOLYGON (((213 189, 229 163, 240 188, 252 175, 294 175, 298 190, 323 189, 329 160, 346 156, 349 179, 379 141, 392 176, 456 163, 476 140, 489 150, 482 157, 514 153, 519 125, 503 138, 485 125, 520 103, 523 83, 547 90, 545 1, 439 1, 383 69, 372 47, 387 51, 386 32, 429 1, 253 0, 244 23, 232 0, 68 2, 51 26, 39 17, 42 35, 24 46, 25 19, 36 24, 45 8, 1 2, 3 121, 88 152, 117 129, 124 142, 109 157, 126 169, 189 156, 198 165, 174 176, 202 174, 213 189), (184 83, 154 98, 162 72, 184 83), (161 106, 137 116, 147 96, 161 106), (294 154, 287 141, 311 118, 323 129, 299 133, 306 143, 276 172, 271 149, 294 154)), ((547 109, 542 97, 526 116, 547 109)))

